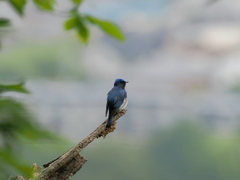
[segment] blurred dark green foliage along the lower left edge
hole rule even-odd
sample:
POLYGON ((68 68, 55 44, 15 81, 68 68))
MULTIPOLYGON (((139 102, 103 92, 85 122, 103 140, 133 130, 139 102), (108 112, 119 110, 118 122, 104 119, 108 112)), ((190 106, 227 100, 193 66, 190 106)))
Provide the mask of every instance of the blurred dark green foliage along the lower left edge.
POLYGON ((23 103, 2 95, 12 91, 28 93, 23 83, 0 85, 0 179, 7 179, 13 172, 31 175, 32 168, 20 153, 23 141, 58 140, 34 121, 23 103))

